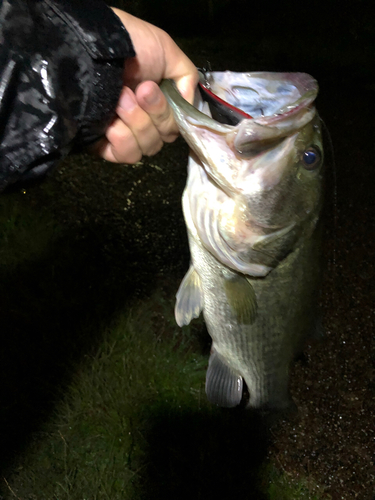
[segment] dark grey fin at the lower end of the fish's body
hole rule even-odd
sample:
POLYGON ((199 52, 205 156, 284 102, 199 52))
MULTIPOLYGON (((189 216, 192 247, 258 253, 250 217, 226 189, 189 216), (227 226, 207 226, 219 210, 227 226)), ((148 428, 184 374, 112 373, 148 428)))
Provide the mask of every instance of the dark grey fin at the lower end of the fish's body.
POLYGON ((210 403, 233 408, 241 402, 242 377, 235 373, 215 351, 210 356, 206 374, 206 394, 210 403))

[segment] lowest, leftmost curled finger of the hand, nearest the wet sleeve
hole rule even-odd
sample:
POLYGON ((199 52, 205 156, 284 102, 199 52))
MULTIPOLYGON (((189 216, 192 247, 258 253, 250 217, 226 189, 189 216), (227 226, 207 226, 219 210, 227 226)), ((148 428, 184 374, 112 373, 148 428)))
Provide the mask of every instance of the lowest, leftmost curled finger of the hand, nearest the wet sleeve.
POLYGON ((98 153, 112 163, 137 163, 142 158, 134 134, 120 118, 107 128, 106 139, 100 144, 98 153))

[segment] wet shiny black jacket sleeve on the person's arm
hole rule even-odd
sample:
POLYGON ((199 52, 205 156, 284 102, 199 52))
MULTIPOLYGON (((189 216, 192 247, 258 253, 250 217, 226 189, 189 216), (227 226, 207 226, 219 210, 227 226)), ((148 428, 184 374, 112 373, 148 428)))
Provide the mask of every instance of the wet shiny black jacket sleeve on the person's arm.
POLYGON ((134 49, 101 0, 0 0, 0 190, 103 136, 134 49))

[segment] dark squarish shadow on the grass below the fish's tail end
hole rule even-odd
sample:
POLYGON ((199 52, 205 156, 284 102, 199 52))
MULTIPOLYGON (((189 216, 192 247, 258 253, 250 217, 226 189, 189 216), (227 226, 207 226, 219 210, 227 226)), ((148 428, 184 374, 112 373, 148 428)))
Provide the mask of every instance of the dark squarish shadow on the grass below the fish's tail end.
POLYGON ((258 415, 241 408, 171 411, 166 404, 151 420, 141 498, 267 498, 259 477, 268 437, 258 415))

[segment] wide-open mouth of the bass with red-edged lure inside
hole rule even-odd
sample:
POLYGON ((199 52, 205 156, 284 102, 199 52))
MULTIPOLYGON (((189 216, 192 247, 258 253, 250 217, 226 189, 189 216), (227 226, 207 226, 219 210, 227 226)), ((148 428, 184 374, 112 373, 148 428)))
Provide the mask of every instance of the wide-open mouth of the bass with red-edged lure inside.
POLYGON ((200 72, 198 88, 203 89, 203 98, 200 97, 200 101, 211 100, 213 108, 224 110, 224 120, 216 120, 202 112, 200 106, 196 107, 186 101, 179 93, 173 80, 163 80, 160 88, 172 106, 175 115, 177 114, 175 117, 182 126, 182 130, 184 129, 183 122, 188 120, 192 125, 207 127, 218 133, 236 130, 238 124, 241 125, 243 122, 278 128, 277 126, 281 125, 283 121, 294 120, 302 110, 311 106, 319 89, 317 81, 307 73, 215 71, 203 75, 200 72), (258 88, 255 88, 253 80, 258 80, 258 88), (207 83, 208 81, 209 83, 207 83), (234 85, 233 81, 238 81, 238 85, 234 85), (268 91, 268 94, 262 93, 262 86, 264 87, 267 82, 271 82, 275 86, 272 99, 268 95, 272 89, 268 91), (250 113, 244 109, 247 98, 246 96, 238 96, 239 88, 258 94, 257 103, 259 106, 257 104, 257 109, 263 110, 261 114, 250 113), (233 113, 235 115, 234 122, 225 121, 233 113))

